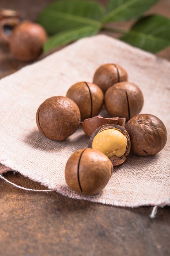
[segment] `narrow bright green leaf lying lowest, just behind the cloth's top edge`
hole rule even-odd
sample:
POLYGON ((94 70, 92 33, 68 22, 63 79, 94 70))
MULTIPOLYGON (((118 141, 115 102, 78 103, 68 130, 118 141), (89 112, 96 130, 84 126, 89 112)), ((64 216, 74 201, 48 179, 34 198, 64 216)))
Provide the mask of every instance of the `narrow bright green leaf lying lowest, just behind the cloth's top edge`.
POLYGON ((66 45, 75 40, 86 36, 93 36, 97 34, 99 29, 93 26, 79 27, 76 29, 60 32, 54 36, 51 36, 49 40, 44 44, 44 52, 48 52, 50 49, 60 45, 66 45))

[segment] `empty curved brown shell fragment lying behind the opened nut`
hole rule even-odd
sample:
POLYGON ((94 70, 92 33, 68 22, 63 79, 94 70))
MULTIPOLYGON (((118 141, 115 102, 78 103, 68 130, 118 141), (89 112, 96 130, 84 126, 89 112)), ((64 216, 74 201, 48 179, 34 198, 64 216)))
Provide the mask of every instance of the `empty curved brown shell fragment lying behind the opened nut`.
POLYGON ((85 134, 88 137, 91 137, 93 132, 95 132, 95 130, 97 128, 99 128, 100 126, 102 126, 104 124, 117 124, 117 125, 124 127, 125 122, 126 122, 126 118, 120 118, 120 117, 106 118, 106 117, 102 117, 102 116, 97 116, 97 117, 85 119, 80 124, 81 124, 82 129, 85 132, 85 134))

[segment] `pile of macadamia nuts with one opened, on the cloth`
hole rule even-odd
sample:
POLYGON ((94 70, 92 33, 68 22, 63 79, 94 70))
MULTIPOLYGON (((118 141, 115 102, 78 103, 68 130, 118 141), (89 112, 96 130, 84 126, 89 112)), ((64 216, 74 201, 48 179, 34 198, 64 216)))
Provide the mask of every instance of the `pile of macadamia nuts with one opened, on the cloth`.
POLYGON ((126 161, 130 149, 139 156, 155 155, 163 149, 166 127, 154 115, 139 114, 143 104, 143 94, 128 82, 126 70, 105 64, 96 70, 93 83, 75 83, 66 97, 51 97, 40 105, 37 126, 47 138, 63 141, 79 123, 90 137, 88 148, 77 150, 66 163, 65 180, 73 191, 99 193, 108 183, 113 166, 126 161), (103 103, 110 118, 97 116, 103 103))

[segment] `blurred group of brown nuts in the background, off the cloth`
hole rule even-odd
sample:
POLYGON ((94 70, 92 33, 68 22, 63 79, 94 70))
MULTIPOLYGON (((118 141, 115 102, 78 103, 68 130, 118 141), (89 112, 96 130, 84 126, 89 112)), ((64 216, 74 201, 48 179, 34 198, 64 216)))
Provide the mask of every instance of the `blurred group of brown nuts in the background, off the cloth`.
POLYGON ((46 31, 39 24, 22 21, 17 11, 0 10, 0 40, 9 45, 17 60, 34 61, 42 53, 46 39, 46 31))

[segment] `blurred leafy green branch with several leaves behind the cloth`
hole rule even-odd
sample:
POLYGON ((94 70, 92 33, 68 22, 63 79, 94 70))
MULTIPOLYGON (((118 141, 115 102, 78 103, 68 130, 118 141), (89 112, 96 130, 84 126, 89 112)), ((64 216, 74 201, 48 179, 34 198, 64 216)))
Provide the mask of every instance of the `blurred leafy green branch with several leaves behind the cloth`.
POLYGON ((160 15, 141 17, 158 0, 109 0, 106 8, 86 0, 58 0, 39 15, 38 22, 51 36, 44 51, 66 45, 99 31, 118 32, 120 39, 149 52, 158 52, 170 45, 170 19, 160 15), (137 19, 130 30, 110 28, 107 24, 137 19))

